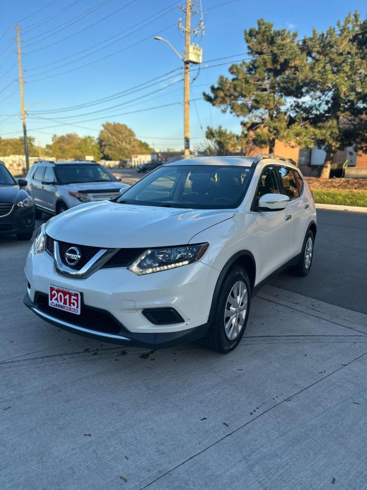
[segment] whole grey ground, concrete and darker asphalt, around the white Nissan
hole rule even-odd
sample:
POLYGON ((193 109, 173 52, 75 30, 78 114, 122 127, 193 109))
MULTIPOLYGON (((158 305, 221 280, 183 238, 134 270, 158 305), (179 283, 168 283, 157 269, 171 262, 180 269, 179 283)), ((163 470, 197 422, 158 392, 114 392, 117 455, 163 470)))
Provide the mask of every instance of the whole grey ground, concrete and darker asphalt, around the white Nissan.
POLYGON ((0 238, 1 487, 365 490, 367 220, 318 216, 310 275, 261 289, 228 355, 46 324, 22 305, 30 243, 0 238))

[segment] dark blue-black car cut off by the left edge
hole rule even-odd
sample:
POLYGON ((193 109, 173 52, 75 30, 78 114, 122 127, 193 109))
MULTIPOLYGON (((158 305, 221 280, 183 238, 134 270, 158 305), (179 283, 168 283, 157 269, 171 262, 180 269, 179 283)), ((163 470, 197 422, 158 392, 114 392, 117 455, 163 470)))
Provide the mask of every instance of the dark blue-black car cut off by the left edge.
POLYGON ((18 240, 30 240, 35 228, 35 207, 29 193, 18 184, 3 162, 0 162, 0 235, 15 234, 18 240))

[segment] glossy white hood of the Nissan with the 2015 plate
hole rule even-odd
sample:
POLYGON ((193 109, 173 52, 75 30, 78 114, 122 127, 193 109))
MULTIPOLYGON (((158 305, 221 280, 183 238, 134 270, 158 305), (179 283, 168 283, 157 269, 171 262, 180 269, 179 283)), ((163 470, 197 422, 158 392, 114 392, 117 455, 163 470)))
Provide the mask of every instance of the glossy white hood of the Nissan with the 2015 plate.
POLYGON ((230 209, 178 209, 109 201, 88 203, 52 218, 52 238, 101 248, 184 245, 191 238, 234 216, 230 209))

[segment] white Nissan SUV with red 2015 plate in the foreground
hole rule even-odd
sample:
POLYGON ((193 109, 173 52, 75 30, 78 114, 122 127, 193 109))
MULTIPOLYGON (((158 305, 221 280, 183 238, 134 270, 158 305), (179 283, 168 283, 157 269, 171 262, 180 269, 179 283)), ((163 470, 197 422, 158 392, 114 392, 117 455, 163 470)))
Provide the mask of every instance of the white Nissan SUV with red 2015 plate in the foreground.
POLYGON ((113 202, 39 229, 24 303, 47 322, 123 345, 240 342, 251 297, 285 267, 308 274, 316 209, 274 155, 167 163, 113 202))

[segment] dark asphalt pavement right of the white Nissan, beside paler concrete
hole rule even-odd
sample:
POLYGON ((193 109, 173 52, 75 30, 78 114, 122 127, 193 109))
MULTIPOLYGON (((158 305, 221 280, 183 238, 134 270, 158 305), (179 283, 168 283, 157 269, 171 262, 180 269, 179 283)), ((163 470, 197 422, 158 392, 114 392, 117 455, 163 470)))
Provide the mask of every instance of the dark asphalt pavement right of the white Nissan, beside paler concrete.
POLYGON ((318 210, 313 264, 305 278, 281 274, 271 284, 367 313, 367 214, 318 210))

